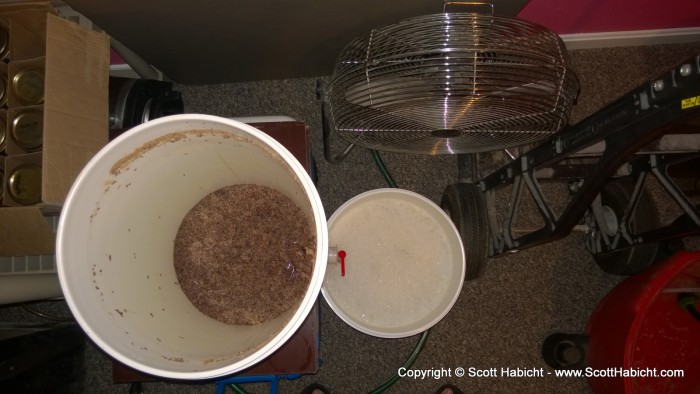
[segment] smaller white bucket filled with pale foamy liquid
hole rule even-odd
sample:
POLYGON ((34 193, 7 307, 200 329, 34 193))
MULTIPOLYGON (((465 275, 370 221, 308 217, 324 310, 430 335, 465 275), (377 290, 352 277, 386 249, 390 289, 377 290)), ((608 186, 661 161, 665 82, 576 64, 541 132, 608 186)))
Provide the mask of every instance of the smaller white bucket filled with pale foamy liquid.
POLYGON ((420 194, 362 193, 335 211, 328 232, 345 261, 329 261, 321 292, 351 327, 382 338, 415 335, 457 300, 465 275, 459 232, 420 194))

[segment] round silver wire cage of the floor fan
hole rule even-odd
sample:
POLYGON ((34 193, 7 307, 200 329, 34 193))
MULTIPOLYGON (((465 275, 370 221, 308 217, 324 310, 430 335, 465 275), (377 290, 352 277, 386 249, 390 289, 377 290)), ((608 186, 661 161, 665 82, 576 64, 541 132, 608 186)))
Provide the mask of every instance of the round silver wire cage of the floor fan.
POLYGON ((535 142, 578 91, 564 43, 526 21, 443 13, 377 28, 339 55, 326 97, 343 139, 371 149, 475 153, 535 142))

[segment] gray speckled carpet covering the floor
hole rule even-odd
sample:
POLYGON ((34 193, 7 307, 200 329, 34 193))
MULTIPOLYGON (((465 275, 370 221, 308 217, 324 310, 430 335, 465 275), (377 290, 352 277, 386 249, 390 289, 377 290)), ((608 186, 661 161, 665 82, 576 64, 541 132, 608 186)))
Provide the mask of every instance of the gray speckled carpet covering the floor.
MULTIPOLYGON (((697 52, 700 43, 664 47, 611 48, 572 53, 581 93, 572 114, 577 122, 606 103, 697 52)), ((367 151, 357 149, 340 164, 323 160, 316 80, 262 81, 232 85, 177 86, 187 112, 221 116, 286 115, 305 121, 312 132, 318 164, 318 190, 326 214, 351 197, 385 187, 367 151)), ((338 146, 336 146, 338 148, 338 146)), ((446 185, 456 182, 451 156, 385 154, 399 187, 439 202, 446 185)), ((600 271, 586 252, 582 234, 504 257, 490 259, 484 276, 465 283, 452 311, 430 333, 415 368, 545 368, 542 340, 556 331, 581 332, 600 299, 619 281, 600 271)), ((367 392, 404 362, 418 336, 388 340, 369 337, 345 325, 321 304, 322 367, 316 375, 282 382, 283 393, 297 393, 320 382, 335 393, 367 392)), ((94 347, 86 350, 86 393, 128 392, 113 385, 109 360, 94 347)), ((402 379, 394 393, 431 393, 452 382, 467 393, 588 393, 575 378, 402 379)), ((212 393, 212 384, 148 383, 146 392, 212 393)), ((247 385, 266 392, 265 384, 247 385)))

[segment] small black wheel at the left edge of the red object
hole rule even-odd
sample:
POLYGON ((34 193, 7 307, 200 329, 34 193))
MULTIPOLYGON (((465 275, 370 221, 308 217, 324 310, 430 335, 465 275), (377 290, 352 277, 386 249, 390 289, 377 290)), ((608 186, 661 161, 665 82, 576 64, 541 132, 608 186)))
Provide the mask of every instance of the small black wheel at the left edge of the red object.
POLYGON ((542 358, 554 369, 585 369, 588 366, 588 336, 556 333, 542 343, 542 358))

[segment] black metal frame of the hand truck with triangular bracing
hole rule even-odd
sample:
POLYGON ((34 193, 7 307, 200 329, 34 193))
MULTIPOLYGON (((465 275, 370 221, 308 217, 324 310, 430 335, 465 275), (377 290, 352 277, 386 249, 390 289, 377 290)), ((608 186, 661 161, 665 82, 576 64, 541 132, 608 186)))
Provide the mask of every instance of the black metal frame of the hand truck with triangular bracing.
MULTIPOLYGON (((653 81, 668 79, 667 76, 642 84, 590 117, 524 153, 518 160, 513 160, 479 180, 479 186, 485 194, 491 229, 490 256, 563 238, 576 227, 582 217, 586 219, 591 231, 602 230, 603 233, 591 235, 589 247, 593 252, 612 251, 640 243, 662 242, 700 234, 698 207, 693 206, 666 174, 667 167, 672 163, 700 157, 700 152, 641 152, 644 147, 667 134, 680 132, 700 138, 700 104, 697 104, 695 99, 700 96, 700 55, 679 67, 692 68, 691 72, 686 70, 686 78, 682 84, 665 84, 663 94, 658 86, 654 86, 653 81), (594 165, 589 163, 593 160, 591 157, 586 158, 587 161, 581 168, 576 168, 570 163, 571 158, 578 152, 601 142, 604 143, 601 144, 604 145, 604 150, 595 157, 597 162, 594 165), (578 182, 575 190, 572 190, 572 199, 558 217, 555 217, 539 188, 536 176, 552 175, 556 172, 552 168, 557 168, 554 165, 564 170, 562 173, 565 173, 567 181, 578 182), (620 171, 623 167, 625 171, 620 171), (610 178, 619 176, 621 172, 634 179, 634 189, 617 228, 605 228, 599 193, 610 178), (685 217, 679 217, 672 225, 664 228, 646 231, 643 234, 631 234, 628 220, 634 217, 634 210, 649 173, 659 180, 680 205, 685 217), (496 217, 495 191, 511 183, 513 190, 508 201, 506 217, 503 223, 499 223, 496 217), (524 185, 527 185, 532 193, 545 226, 516 237, 513 234, 513 226, 524 185), (598 226, 595 226, 596 222, 598 226), (599 228, 601 224, 603 228, 599 228), (614 235, 608 235, 613 232, 614 235)), ((680 73, 673 69, 667 74, 676 72, 680 73)))

